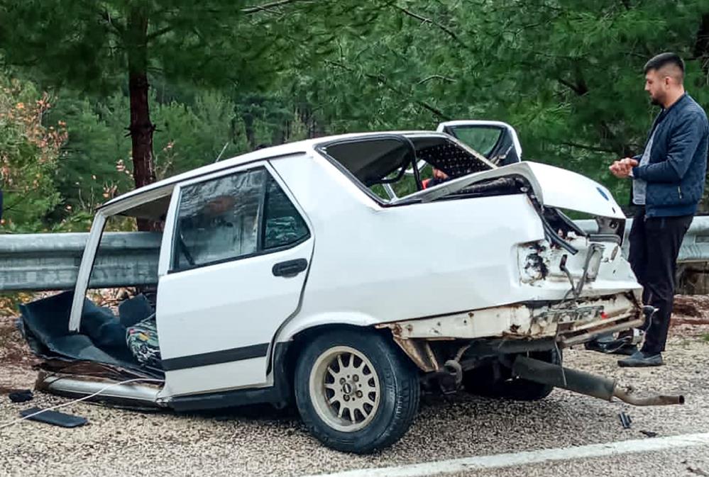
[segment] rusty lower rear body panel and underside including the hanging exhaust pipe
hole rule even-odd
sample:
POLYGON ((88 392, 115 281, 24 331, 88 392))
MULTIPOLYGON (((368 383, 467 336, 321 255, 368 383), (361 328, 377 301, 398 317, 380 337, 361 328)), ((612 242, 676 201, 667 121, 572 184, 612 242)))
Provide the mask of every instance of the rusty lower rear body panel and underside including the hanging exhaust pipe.
MULTIPOLYGON (((379 325, 389 328, 394 341, 423 371, 424 381, 439 380, 455 391, 465 371, 480 366, 502 366, 507 376, 632 405, 683 404, 682 395, 639 398, 615 381, 529 357, 554 352, 610 332, 629 330, 644 322, 631 293, 588 298, 571 308, 515 304, 443 317, 405 320, 379 325)), ((444 389, 446 392, 446 389, 444 389)))

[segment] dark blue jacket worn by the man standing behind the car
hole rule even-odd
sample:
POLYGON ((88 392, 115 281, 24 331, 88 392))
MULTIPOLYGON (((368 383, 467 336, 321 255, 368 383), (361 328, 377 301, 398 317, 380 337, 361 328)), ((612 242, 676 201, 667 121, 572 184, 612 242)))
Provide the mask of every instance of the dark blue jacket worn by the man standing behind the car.
MULTIPOLYGON (((693 215, 704 192, 709 122, 704 110, 684 94, 655 119, 649 164, 633 167, 647 181, 645 215, 693 215)), ((636 156, 640 159, 642 156, 636 156)))

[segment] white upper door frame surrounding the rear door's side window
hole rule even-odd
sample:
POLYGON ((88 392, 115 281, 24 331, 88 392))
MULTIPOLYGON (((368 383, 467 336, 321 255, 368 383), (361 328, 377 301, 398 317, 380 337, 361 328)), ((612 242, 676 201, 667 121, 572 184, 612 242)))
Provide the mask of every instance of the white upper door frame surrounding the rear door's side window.
MULTIPOLYGON (((174 194, 172 200, 175 201, 175 207, 172 208, 172 211, 170 211, 169 215, 170 218, 172 219, 171 222, 172 224, 170 225, 172 230, 170 230, 170 252, 169 252, 169 257, 167 260, 167 271, 165 271, 166 274, 179 274, 185 271, 192 271, 195 269, 202 269, 207 266, 215 266, 219 264, 224 264, 224 263, 229 263, 229 262, 237 262, 243 259, 250 259, 254 257, 261 257, 263 255, 268 255, 268 254, 274 254, 277 252, 282 252, 287 249, 292 249, 294 247, 297 247, 298 245, 302 244, 303 242, 307 242, 309 240, 313 233, 312 233, 312 226, 309 223, 309 220, 307 218, 307 215, 304 213, 302 208, 299 206, 297 201, 295 201, 295 198, 292 196, 292 193, 287 189, 287 186, 285 186, 285 183, 282 181, 280 176, 275 172, 275 169, 268 163, 268 161, 259 161, 259 162, 252 162, 250 164, 244 164, 240 167, 234 167, 230 169, 224 169, 219 172, 216 172, 214 174, 209 174, 207 176, 200 176, 198 178, 190 179, 189 181, 184 181, 180 184, 177 184, 175 186, 175 190, 172 192, 174 194), (180 201, 182 199, 182 191, 185 189, 187 186, 191 186, 193 184, 200 184, 202 182, 207 182, 207 181, 213 181, 217 179, 221 179, 222 177, 230 176, 233 174, 240 174, 240 173, 248 173, 252 172, 258 169, 263 169, 265 174, 267 174, 264 184, 261 188, 260 191, 260 197, 259 197, 259 210, 257 212, 257 220, 258 220, 258 231, 257 231, 257 236, 256 236, 256 251, 250 254, 243 254, 239 255, 238 257, 229 257, 229 258, 224 258, 224 259, 218 259, 218 260, 212 260, 211 262, 207 262, 204 264, 194 264, 191 266, 187 267, 182 267, 182 268, 175 268, 175 257, 177 253, 180 253, 180 251, 177 249, 177 215, 180 213, 180 201), (273 247, 270 249, 265 249, 263 247, 263 242, 264 242, 264 237, 263 234, 265 233, 265 191, 268 186, 268 179, 273 179, 277 186, 280 187, 280 189, 285 193, 286 198, 288 201, 290 201, 291 205, 295 209, 295 211, 300 215, 300 218, 303 220, 303 223, 305 224, 305 228, 307 230, 307 233, 303 236, 300 237, 299 240, 292 242, 287 245, 283 245, 281 247, 273 247)), ((172 206, 172 204, 171 204, 172 206)), ((167 225, 167 223, 166 223, 167 225)))

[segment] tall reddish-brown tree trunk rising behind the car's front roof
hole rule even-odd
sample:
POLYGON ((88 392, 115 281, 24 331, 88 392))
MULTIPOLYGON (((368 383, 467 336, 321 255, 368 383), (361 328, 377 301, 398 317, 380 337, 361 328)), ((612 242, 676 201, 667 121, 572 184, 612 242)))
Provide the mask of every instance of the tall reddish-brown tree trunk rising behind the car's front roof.
MULTIPOLYGON (((155 182, 153 131, 148 105, 148 14, 144 7, 128 15, 128 91, 131 96, 133 180, 136 189, 155 182)), ((155 230, 150 221, 138 219, 138 230, 155 230)))

